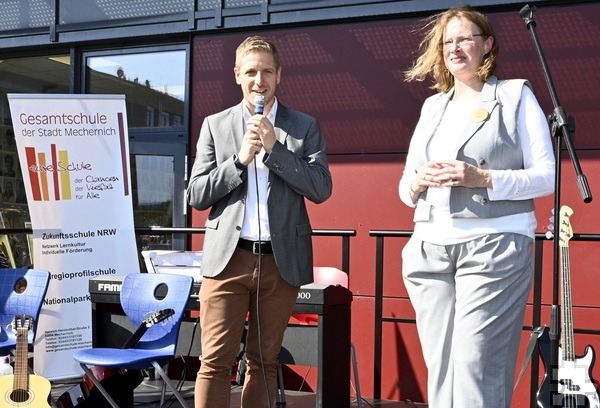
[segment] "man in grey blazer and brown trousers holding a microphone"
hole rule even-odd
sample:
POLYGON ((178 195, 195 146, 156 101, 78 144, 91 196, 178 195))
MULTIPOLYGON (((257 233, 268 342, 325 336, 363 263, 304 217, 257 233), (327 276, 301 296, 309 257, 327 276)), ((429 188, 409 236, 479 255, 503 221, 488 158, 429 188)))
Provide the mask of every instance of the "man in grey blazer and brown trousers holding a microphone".
POLYGON ((192 207, 211 208, 196 408, 229 408, 230 370, 246 320, 242 407, 274 406, 283 334, 299 287, 313 280, 305 198, 321 203, 332 191, 318 122, 275 97, 281 80, 275 45, 264 37, 244 40, 234 73, 243 101, 204 120, 187 190, 192 207))

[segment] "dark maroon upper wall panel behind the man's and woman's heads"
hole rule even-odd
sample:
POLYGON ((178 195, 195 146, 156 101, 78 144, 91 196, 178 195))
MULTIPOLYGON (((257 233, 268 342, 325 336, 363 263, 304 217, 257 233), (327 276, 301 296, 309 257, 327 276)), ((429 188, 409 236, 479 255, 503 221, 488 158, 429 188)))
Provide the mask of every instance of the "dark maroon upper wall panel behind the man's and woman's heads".
MULTIPOLYGON (((553 106, 533 41, 516 10, 491 13, 501 54, 498 75, 527 78, 542 107, 553 106)), ((600 102, 600 7, 597 4, 540 8, 537 32, 555 87, 576 118, 578 146, 598 148, 600 102)), ((318 117, 331 154, 406 151, 429 81, 404 82, 419 37, 414 18, 333 24, 256 32, 280 48, 278 97, 318 117)), ((234 51, 248 35, 202 34, 194 39, 192 135, 202 119, 241 101, 233 76, 234 51)), ((195 137, 194 139, 195 140, 195 137)), ((376 160, 376 159, 374 159, 376 160)))

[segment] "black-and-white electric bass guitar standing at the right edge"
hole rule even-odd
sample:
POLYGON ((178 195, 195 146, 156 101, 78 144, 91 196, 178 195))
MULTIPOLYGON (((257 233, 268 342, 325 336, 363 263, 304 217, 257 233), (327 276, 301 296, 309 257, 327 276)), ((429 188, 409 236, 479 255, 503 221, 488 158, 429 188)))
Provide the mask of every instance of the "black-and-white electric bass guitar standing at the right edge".
MULTIPOLYGON (((541 408, 600 408, 598 389, 590 376, 594 363, 594 349, 588 345, 583 356, 575 355, 569 258, 569 240, 573 237, 571 215, 573 210, 570 207, 560 208, 558 239, 563 301, 561 345, 558 347, 558 365, 555 370, 549 370, 550 347, 540 347, 542 361, 546 367, 546 375, 537 394, 537 404, 541 408), (553 378, 552 373, 556 378, 553 378), (550 401, 551 384, 557 384, 553 402, 550 401)), ((544 344, 549 346, 550 342, 545 341, 544 344)))

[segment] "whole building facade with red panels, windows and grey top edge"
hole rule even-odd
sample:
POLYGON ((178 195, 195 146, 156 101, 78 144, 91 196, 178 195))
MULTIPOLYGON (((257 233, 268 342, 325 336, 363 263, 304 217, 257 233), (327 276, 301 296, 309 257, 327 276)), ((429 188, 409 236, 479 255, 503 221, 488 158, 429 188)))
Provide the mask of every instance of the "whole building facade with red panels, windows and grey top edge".
MULTIPOLYGON (((185 182, 206 115, 234 105, 241 92, 233 76, 234 53, 247 36, 267 35, 278 44, 283 77, 280 101, 319 118, 327 142, 334 195, 310 206, 313 228, 349 229, 353 336, 363 396, 425 400, 425 368, 414 316, 400 276, 406 237, 386 241, 385 285, 376 277, 372 232, 412 228, 397 183, 427 83, 407 84, 403 71, 415 58, 419 22, 460 4, 433 0, 3 0, 0 2, 0 176, 2 227, 30 227, 9 93, 124 94, 129 123, 136 227, 202 227, 206 213, 191 211, 185 182), (381 296, 377 295, 381 290, 381 296), (388 318, 376 321, 377 309, 388 318), (385 355, 381 359, 381 354, 385 355)), ((471 1, 486 12, 501 47, 498 74, 527 78, 542 107, 553 112, 530 27, 515 1, 471 1)), ((576 120, 576 150, 592 193, 600 185, 600 2, 530 1, 536 32, 561 102, 576 120), (597 187, 596 187, 597 188, 597 187)), ((18 135, 17 135, 18 137, 18 135)), ((560 138, 557 138, 560 141, 560 138)), ((593 208, 578 197, 569 160, 563 160, 562 197, 575 210, 576 232, 600 230, 593 208)), ((548 230, 553 198, 536 202, 538 230, 548 230)), ((15 266, 31 264, 24 235, 10 235, 15 266)), ((140 236, 146 248, 202 248, 202 236, 140 236)), ((316 262, 339 266, 337 241, 315 240, 316 262)), ((577 345, 597 345, 594 240, 573 245, 577 345), (577 257, 578 254, 585 256, 577 257)), ((540 293, 532 294, 524 322, 548 324, 553 303, 553 259, 542 245, 540 293), (543 289, 541 289, 543 288, 543 289), (537 317, 536 317, 537 316, 537 317)), ((578 348, 579 350, 579 348, 578 348)), ((300 372, 300 371, 299 371, 300 372)), ((600 378, 600 369, 594 369, 600 378)), ((539 376, 543 374, 543 369, 539 376)), ((538 375, 538 374, 536 374, 538 375)), ((314 377, 307 377, 310 384, 314 377)), ((515 407, 530 404, 539 378, 522 380, 515 407)), ((313 381, 314 382, 314 381, 313 381)))

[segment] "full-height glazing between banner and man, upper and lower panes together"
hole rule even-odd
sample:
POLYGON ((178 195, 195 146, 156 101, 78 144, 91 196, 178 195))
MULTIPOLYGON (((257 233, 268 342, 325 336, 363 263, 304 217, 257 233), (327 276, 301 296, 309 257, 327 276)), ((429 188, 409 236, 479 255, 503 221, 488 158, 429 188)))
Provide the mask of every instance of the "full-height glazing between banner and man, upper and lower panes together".
MULTIPOLYGON (((182 47, 84 56, 85 93, 125 95, 136 227, 186 225, 186 60, 182 47)), ((183 234, 137 238, 140 250, 185 245, 183 234)))

